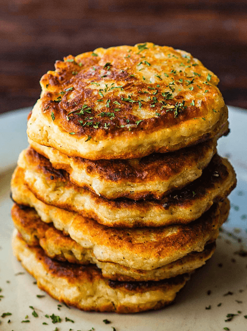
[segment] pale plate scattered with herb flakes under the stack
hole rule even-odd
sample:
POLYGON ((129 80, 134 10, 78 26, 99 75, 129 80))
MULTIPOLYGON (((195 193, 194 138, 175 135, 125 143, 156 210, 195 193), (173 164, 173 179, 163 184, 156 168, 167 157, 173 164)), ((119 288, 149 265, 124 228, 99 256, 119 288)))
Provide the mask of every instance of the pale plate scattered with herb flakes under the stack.
POLYGON ((0 297, 0 316, 12 314, 0 317, 0 330, 113 331, 114 327, 116 331, 219 331, 223 328, 247 331, 244 317, 247 315, 247 256, 236 253, 240 249, 247 252, 247 112, 229 107, 231 133, 218 143, 219 154, 227 156, 235 167, 238 186, 230 196, 229 221, 217 240, 215 254, 192 276, 173 305, 160 311, 117 315, 82 312, 64 304, 58 306, 60 303, 39 290, 33 284, 34 279, 12 256, 9 181, 18 154, 27 146, 25 131, 29 110, 0 116, 0 295, 3 296, 0 297), (242 243, 238 238, 242 238, 242 243), (37 295, 45 296, 38 298, 37 295), (39 317, 32 315, 30 306, 39 317), (46 314, 60 316, 62 322, 52 324, 46 314), (225 322, 227 314, 237 316, 225 322), (21 323, 27 315, 30 323, 21 323), (66 317, 75 323, 66 322, 66 317), (111 324, 104 324, 104 319, 111 324))

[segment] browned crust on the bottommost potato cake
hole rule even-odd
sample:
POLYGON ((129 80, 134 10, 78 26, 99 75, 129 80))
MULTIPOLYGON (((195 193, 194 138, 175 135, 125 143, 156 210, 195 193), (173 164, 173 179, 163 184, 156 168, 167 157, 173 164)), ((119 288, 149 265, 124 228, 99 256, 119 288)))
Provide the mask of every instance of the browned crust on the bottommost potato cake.
MULTIPOLYGON (((37 279, 37 285, 41 290, 45 290, 51 297, 59 300, 60 302, 65 302, 68 305, 80 308, 85 311, 105 311, 105 312, 117 312, 117 313, 135 313, 151 309, 160 309, 165 305, 171 303, 175 297, 175 293, 179 291, 189 279, 188 274, 179 275, 177 277, 171 278, 169 280, 159 281, 159 282, 136 282, 126 283, 126 282, 116 282, 109 284, 109 281, 102 277, 100 269, 95 266, 79 266, 71 263, 63 263, 50 259, 47 257, 41 248, 37 247, 28 247, 25 241, 22 239, 21 235, 18 234, 13 241, 14 254, 19 261, 21 261, 23 267, 37 279), (16 241, 18 242, 16 245, 16 241), (20 250, 26 250, 24 253, 20 250), (28 251, 28 253, 27 253, 28 251), (31 253, 31 254, 30 254, 31 253), (25 254, 34 255, 36 263, 43 270, 46 271, 48 282, 43 282, 40 279, 40 272, 33 267, 29 267, 25 259, 25 254), (22 258, 23 257, 23 258, 22 258), (79 288, 84 284, 86 287, 97 288, 98 285, 105 289, 113 289, 116 294, 122 295, 135 295, 135 294, 145 294, 152 293, 152 291, 163 292, 164 295, 166 292, 169 292, 170 300, 152 300, 145 303, 122 303, 118 299, 118 302, 109 300, 106 298, 104 303, 95 302, 94 304, 83 304, 80 301, 70 300, 68 295, 63 293, 63 290, 60 294, 54 293, 52 287, 57 284, 57 280, 66 280, 69 286, 76 285, 79 288)), ((42 270, 42 271, 43 271, 42 270)), ((85 292, 85 291, 84 291, 85 292)), ((115 300, 116 300, 115 294, 115 300)), ((87 295, 84 293, 83 295, 87 295)), ((83 300, 83 298, 82 298, 83 300)))

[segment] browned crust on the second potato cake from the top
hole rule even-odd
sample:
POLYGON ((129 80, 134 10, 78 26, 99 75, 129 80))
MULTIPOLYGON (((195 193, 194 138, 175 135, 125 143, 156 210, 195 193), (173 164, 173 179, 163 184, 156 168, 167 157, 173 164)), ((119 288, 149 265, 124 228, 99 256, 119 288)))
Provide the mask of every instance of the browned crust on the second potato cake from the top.
MULTIPOLYGON (((36 146, 37 147, 37 146, 36 146)), ((34 149, 37 149, 33 147, 34 149)), ((42 149, 37 150, 38 153, 48 158, 42 149)), ((188 169, 194 169, 196 173, 198 169, 203 169, 209 163, 210 158, 216 152, 216 140, 206 141, 199 143, 196 146, 181 149, 173 153, 155 153, 146 156, 142 159, 131 159, 131 160, 98 160, 92 161, 83 159, 80 157, 74 157, 73 164, 76 167, 82 168, 83 171, 91 176, 92 178, 97 178, 102 181, 112 182, 116 185, 116 191, 113 197, 105 196, 104 193, 100 192, 100 195, 107 199, 116 198, 129 198, 132 200, 140 199, 158 199, 161 200, 167 193, 172 189, 180 189, 189 183, 189 179, 184 179, 180 186, 169 185, 171 189, 165 192, 161 192, 162 189, 159 187, 157 191, 150 191, 143 188, 142 191, 132 191, 131 188, 128 190, 122 190, 122 184, 126 185, 134 183, 147 183, 147 185, 159 182, 170 182, 171 178, 176 178, 177 175, 183 173, 183 171, 188 169), (210 156, 210 157, 209 157, 210 156), (119 187, 119 190, 117 189, 119 187)), ((35 153, 31 148, 27 150, 27 155, 30 154, 31 158, 35 158, 35 153)), ((64 156, 67 158, 66 156, 64 156)), ((69 157, 70 158, 70 157, 69 157)), ((51 161, 52 162, 52 161, 51 161)), ((54 163, 52 166, 56 169, 64 169, 68 171, 71 175, 73 168, 69 164, 63 164, 62 162, 54 163)), ((78 170, 79 171, 79 170, 78 170)), ((192 170, 191 170, 192 171, 192 170)), ((199 174, 198 174, 199 176, 199 174)), ((197 176, 197 177, 198 177, 197 176)), ((194 180, 191 175, 191 181, 194 180)), ((70 176, 70 180, 82 188, 88 189, 91 192, 95 192, 91 185, 84 183, 83 185, 78 184, 70 176)))

